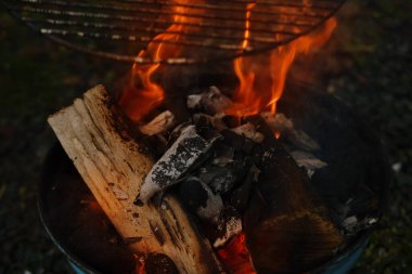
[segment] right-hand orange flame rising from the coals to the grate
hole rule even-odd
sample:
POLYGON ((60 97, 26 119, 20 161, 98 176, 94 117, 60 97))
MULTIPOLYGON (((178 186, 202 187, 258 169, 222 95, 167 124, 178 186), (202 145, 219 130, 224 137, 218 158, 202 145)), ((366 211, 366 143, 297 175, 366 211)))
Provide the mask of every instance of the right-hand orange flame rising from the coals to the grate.
MULTIPOLYGON (((253 6, 249 4, 246 8, 243 50, 249 43, 253 6)), ((300 53, 308 53, 311 49, 324 44, 335 27, 336 19, 332 17, 318 31, 301 36, 286 45, 278 47, 270 53, 269 58, 259 56, 236 58, 233 66, 240 83, 233 96, 234 104, 226 113, 243 117, 269 109, 274 114, 276 103, 284 91, 288 69, 295 57, 300 53)))

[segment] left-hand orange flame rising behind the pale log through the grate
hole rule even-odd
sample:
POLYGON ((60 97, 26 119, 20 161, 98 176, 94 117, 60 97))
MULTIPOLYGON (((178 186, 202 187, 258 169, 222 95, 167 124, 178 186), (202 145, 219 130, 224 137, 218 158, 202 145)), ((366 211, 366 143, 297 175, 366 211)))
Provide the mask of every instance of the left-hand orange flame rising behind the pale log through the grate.
MULTIPOLYGON (((173 8, 173 24, 165 32, 157 35, 149 43, 146 50, 140 51, 138 57, 160 61, 180 54, 181 49, 172 42, 182 39, 179 34, 194 31, 194 27, 188 27, 184 24, 194 23, 199 18, 193 19, 184 15, 190 13, 188 11, 190 8, 184 5, 190 3, 190 0, 175 0, 175 2, 177 5, 173 8)), ((134 63, 132 66, 130 81, 121 93, 119 105, 134 122, 140 122, 165 100, 165 90, 153 79, 160 67, 159 63, 151 65, 134 63)))

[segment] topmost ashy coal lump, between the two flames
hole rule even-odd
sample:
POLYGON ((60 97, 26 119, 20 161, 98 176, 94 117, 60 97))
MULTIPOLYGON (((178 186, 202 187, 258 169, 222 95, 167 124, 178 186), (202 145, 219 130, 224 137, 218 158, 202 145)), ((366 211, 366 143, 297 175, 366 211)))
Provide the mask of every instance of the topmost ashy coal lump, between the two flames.
POLYGON ((207 114, 215 115, 223 113, 233 102, 213 86, 207 92, 189 95, 186 104, 190 109, 203 108, 207 114))

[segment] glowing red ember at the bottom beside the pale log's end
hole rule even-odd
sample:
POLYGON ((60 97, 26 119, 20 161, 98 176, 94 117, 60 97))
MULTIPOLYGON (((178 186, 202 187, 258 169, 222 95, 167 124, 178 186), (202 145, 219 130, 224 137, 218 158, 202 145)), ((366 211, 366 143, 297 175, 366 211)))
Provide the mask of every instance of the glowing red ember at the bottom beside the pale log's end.
POLYGON ((218 251, 220 259, 231 274, 256 274, 250 263, 245 240, 245 234, 240 233, 228 246, 218 251))

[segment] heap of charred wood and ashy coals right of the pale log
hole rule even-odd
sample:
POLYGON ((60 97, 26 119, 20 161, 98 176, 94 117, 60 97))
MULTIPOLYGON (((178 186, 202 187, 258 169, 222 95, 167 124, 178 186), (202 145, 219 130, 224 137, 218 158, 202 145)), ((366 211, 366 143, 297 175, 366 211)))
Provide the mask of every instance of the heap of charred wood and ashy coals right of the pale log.
POLYGON ((359 206, 355 194, 331 201, 317 190, 312 178, 329 162, 294 120, 270 112, 226 115, 231 104, 210 87, 186 96, 185 121, 177 122, 176 109, 164 109, 139 127, 157 161, 136 205, 162 207, 166 192, 176 195, 230 273, 245 265, 257 273, 311 270, 376 223, 377 216, 364 212, 378 197, 359 206), (244 246, 228 259, 241 237, 244 246))

